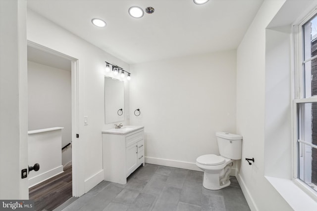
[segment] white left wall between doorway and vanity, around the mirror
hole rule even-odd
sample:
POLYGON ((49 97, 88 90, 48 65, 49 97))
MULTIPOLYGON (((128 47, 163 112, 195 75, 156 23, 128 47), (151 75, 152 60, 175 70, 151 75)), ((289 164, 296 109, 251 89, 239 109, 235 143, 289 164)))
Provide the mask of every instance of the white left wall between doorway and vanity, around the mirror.
MULTIPOLYGON (((28 10, 27 39, 78 59, 79 67, 79 138, 73 140, 79 146, 76 175, 80 185, 78 196, 97 185, 103 179, 102 130, 113 127, 105 125, 104 71, 105 61, 129 71, 129 65, 100 48, 80 39, 53 22, 28 10), (84 116, 88 125, 84 126, 84 116)), ((96 27, 92 25, 92 33, 96 27)), ((125 105, 129 112, 129 83, 125 83, 125 105)), ((123 125, 128 122, 123 122, 123 125)), ((74 162, 74 159, 73 159, 74 162)))

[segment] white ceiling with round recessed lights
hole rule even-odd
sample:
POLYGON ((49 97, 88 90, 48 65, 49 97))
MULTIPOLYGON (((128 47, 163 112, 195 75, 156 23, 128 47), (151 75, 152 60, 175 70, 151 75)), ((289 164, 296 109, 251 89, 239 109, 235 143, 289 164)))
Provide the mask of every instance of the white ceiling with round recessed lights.
POLYGON ((134 64, 236 49, 263 0, 27 0, 29 9, 134 64), (131 6, 155 8, 140 19, 131 6), (91 23, 106 21, 105 28, 91 23))

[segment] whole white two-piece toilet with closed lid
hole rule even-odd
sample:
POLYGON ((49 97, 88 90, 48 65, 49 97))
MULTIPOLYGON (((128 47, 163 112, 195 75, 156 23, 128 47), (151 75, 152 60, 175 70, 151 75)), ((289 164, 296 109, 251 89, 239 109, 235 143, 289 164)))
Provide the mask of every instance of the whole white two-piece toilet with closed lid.
POLYGON ((233 160, 241 159, 242 136, 228 132, 216 132, 220 155, 202 155, 196 165, 204 171, 203 186, 219 190, 230 185, 229 174, 233 160))

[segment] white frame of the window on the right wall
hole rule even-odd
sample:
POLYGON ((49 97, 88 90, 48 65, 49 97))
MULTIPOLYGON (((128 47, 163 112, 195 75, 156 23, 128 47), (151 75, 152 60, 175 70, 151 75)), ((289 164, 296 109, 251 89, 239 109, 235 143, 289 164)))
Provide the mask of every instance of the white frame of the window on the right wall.
MULTIPOLYGON (((307 15, 299 24, 293 25, 292 28, 292 35, 293 35, 293 64, 294 69, 291 70, 294 74, 292 75, 292 90, 291 92, 291 99, 293 102, 291 103, 292 106, 292 122, 293 122, 293 144, 292 144, 292 162, 293 162, 293 182, 300 187, 305 193, 307 193, 310 197, 317 201, 317 191, 313 190, 302 181, 299 177, 299 105, 302 103, 317 103, 317 96, 310 96, 305 98, 305 79, 304 79, 304 65, 305 61, 309 61, 309 59, 304 61, 304 33, 303 33, 303 26, 317 16, 317 10, 315 9, 309 15, 307 15)), ((311 57, 310 60, 315 58, 311 57)))

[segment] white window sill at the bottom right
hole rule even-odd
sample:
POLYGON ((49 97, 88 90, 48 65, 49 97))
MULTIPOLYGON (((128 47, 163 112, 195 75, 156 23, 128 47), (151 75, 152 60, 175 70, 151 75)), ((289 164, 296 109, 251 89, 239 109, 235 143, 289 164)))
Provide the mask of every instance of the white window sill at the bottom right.
POLYGON ((316 211, 317 201, 290 179, 265 176, 294 211, 316 211))

